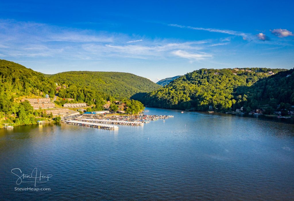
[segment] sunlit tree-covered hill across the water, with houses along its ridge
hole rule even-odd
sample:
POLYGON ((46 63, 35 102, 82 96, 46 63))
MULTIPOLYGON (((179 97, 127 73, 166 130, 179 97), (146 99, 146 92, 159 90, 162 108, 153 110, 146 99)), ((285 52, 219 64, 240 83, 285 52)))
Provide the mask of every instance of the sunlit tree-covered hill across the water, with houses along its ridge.
MULTIPOLYGON (((237 102, 237 87, 250 87, 261 78, 270 76, 269 71, 277 73, 286 69, 200 69, 187 73, 138 100, 151 107, 206 111, 211 105, 214 110, 227 111, 234 108, 237 102)), ((243 102, 247 100, 244 96, 241 99, 243 102)))

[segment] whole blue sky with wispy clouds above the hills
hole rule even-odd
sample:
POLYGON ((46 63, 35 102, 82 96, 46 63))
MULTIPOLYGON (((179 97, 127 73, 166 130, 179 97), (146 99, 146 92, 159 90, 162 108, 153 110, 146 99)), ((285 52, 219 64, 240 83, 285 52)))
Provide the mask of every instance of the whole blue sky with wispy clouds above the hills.
POLYGON ((293 68, 293 1, 3 1, 0 58, 42 73, 152 81, 199 68, 293 68))

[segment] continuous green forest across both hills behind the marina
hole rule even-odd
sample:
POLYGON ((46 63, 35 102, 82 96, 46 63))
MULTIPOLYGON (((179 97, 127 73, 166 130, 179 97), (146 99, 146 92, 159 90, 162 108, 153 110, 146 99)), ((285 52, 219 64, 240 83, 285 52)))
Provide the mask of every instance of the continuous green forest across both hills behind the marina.
MULTIPOLYGON (((106 100, 122 100, 128 105, 126 113, 137 113, 143 105, 138 101, 126 100, 138 92, 149 92, 161 86, 147 78, 130 73, 70 71, 55 75, 33 71, 20 64, 0 60, 0 126, 2 123, 16 125, 36 123, 37 117, 46 117, 43 110, 34 110, 21 98, 53 98, 56 84, 62 87, 59 97, 73 98, 71 102, 86 102, 93 110, 103 110, 106 100)), ((59 99, 62 105, 69 100, 59 99)))

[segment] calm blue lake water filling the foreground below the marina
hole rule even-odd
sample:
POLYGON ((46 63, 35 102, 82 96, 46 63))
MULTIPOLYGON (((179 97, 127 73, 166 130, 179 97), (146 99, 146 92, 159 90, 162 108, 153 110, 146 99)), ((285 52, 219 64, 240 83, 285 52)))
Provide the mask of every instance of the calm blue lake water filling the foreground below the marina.
POLYGON ((294 200, 294 125, 233 115, 174 115, 143 127, 65 124, 0 130, 0 200, 294 200), (19 168, 49 175, 15 191, 19 168), (41 181, 46 181, 42 179, 41 181))

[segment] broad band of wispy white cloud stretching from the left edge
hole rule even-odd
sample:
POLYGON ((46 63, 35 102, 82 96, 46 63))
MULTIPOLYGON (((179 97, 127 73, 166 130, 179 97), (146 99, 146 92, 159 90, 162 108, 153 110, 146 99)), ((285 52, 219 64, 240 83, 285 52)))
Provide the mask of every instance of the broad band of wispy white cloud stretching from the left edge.
MULTIPOLYGON (((189 52, 189 60, 209 52, 212 40, 175 39, 135 40, 140 36, 51 26, 34 22, 0 20, 0 53, 4 57, 46 57, 72 60, 107 58, 166 59, 183 57, 175 51, 189 52), (139 42, 139 43, 138 43, 139 42)), ((207 53, 208 54, 208 53, 207 53)), ((209 58, 209 57, 207 57, 209 58)))

